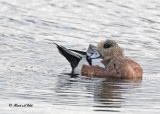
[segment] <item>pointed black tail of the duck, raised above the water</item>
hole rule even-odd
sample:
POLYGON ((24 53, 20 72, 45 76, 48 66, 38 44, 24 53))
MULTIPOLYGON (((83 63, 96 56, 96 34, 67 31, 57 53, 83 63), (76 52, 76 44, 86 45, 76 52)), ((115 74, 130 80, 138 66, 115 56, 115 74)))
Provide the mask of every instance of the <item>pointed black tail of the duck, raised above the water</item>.
MULTIPOLYGON (((54 42, 53 42, 54 43, 54 42)), ((59 53, 62 54, 68 61, 69 63, 71 64, 71 67, 72 67, 72 73, 74 71, 74 68, 78 65, 79 61, 82 59, 82 57, 80 57, 79 55, 71 52, 71 50, 63 47, 63 46, 60 46, 56 43, 54 43, 58 50, 59 50, 59 53)))

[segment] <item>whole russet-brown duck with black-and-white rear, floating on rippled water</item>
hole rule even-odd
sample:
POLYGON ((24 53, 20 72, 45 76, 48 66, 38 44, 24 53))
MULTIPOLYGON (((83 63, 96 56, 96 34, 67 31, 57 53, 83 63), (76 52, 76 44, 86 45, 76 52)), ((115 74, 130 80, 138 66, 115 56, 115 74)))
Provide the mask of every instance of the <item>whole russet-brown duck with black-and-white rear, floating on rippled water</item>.
POLYGON ((142 78, 141 66, 125 57, 123 49, 114 40, 103 40, 97 47, 89 45, 86 52, 56 45, 59 52, 70 62, 72 74, 99 78, 142 78))

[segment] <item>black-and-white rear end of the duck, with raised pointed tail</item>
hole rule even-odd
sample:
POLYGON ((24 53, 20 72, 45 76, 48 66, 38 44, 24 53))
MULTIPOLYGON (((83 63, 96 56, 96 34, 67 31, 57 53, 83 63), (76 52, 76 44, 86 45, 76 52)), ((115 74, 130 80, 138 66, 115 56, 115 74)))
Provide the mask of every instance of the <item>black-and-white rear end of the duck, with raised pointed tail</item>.
POLYGON ((101 63, 102 59, 97 57, 96 58, 96 46, 89 44, 89 47, 86 51, 80 51, 75 49, 67 49, 64 46, 58 45, 57 43, 53 42, 59 53, 64 56, 68 62, 71 65, 71 74, 79 75, 82 72, 83 65, 86 66, 100 66, 104 68, 104 64, 101 63), (94 54, 95 58, 91 58, 91 56, 94 54))

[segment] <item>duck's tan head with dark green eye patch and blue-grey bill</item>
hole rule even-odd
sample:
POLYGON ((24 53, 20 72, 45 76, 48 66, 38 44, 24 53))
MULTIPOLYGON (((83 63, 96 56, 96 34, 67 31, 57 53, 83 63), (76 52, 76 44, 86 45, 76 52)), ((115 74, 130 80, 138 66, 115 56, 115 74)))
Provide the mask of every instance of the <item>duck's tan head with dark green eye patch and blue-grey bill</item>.
POLYGON ((102 57, 103 59, 110 59, 118 56, 124 56, 123 49, 119 47, 117 42, 114 40, 103 40, 101 41, 96 48, 95 52, 91 58, 102 57))

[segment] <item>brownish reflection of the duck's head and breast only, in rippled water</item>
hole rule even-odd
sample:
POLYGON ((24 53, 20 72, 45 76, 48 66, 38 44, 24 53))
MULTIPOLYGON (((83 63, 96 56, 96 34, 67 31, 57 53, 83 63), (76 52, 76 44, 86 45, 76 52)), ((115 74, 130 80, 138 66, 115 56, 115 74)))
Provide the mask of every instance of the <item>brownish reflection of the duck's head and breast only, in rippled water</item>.
POLYGON ((142 79, 122 80, 122 79, 106 79, 100 82, 94 90, 95 111, 113 111, 117 112, 117 108, 121 108, 121 104, 125 101, 123 94, 138 88, 142 79))

